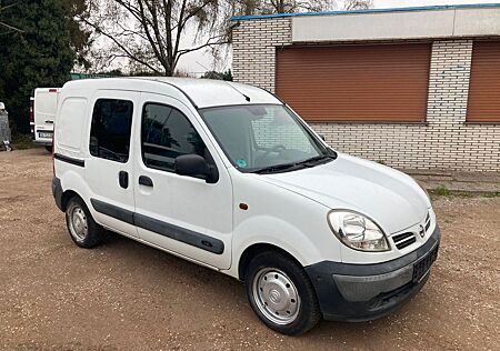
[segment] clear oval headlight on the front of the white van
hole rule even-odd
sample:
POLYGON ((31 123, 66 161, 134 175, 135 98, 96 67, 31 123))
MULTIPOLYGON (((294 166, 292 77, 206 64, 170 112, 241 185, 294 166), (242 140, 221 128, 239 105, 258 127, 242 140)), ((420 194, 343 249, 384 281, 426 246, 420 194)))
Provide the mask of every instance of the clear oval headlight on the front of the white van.
POLYGON ((360 251, 389 251, 386 234, 368 217, 347 210, 332 210, 328 222, 333 233, 349 248, 360 251))

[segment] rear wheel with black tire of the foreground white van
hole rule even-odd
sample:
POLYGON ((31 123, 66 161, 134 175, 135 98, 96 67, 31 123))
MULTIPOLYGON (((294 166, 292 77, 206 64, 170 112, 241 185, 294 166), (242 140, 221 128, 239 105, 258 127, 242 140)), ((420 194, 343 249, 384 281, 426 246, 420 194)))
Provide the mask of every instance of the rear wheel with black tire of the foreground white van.
POLYGON ((79 197, 68 201, 66 225, 71 239, 80 248, 90 249, 103 241, 103 229, 96 223, 86 203, 79 197))

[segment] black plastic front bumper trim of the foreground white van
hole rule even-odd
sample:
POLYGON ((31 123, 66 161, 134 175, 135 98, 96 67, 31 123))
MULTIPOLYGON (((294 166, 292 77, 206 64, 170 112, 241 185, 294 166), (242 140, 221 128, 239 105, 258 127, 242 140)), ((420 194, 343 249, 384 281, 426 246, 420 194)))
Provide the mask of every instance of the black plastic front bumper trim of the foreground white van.
POLYGON ((380 293, 369 301, 349 301, 340 292, 333 274, 351 277, 370 277, 386 274, 408 265, 414 265, 430 254, 437 254, 441 233, 439 227, 428 241, 413 252, 392 261, 376 264, 347 264, 323 261, 306 267, 317 292, 323 318, 336 321, 367 321, 381 318, 399 309, 422 289, 429 279, 427 272, 419 280, 411 280, 407 284, 392 291, 380 293))

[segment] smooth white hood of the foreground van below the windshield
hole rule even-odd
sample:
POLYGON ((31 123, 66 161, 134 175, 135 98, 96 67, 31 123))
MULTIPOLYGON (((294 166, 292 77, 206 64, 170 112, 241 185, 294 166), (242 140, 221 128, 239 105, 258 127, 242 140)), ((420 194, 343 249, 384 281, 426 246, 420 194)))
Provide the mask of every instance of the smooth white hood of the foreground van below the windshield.
POLYGON ((426 192, 411 177, 342 153, 326 164, 261 177, 329 209, 363 213, 387 234, 422 222, 431 207, 426 192))

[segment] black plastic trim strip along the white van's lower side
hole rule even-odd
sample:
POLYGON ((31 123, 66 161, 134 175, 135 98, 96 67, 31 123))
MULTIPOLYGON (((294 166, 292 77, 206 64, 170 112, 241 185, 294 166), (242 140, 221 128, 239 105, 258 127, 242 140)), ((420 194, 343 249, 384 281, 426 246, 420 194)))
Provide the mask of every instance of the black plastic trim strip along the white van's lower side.
POLYGON ((222 254, 224 252, 224 243, 219 239, 164 221, 160 221, 144 214, 132 212, 100 200, 90 199, 90 202, 92 203, 93 209, 99 213, 112 217, 126 223, 150 230, 152 232, 156 232, 157 234, 187 243, 189 245, 216 254, 222 254))

